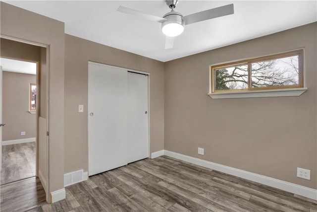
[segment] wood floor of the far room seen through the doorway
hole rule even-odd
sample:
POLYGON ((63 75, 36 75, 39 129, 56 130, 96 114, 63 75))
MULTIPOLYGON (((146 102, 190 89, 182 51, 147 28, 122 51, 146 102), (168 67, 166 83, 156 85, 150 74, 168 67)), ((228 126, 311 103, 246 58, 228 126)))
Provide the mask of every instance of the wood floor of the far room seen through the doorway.
POLYGON ((35 176, 35 142, 2 146, 1 185, 35 176))

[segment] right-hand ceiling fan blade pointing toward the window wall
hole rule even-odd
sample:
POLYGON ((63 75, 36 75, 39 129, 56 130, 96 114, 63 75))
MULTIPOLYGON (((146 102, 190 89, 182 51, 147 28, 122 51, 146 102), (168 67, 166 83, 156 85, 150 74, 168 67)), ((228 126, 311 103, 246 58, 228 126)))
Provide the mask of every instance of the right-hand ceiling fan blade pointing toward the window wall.
POLYGON ((183 17, 185 25, 196 23, 203 20, 208 20, 211 18, 221 17, 225 15, 233 14, 233 3, 219 6, 216 8, 208 9, 205 11, 197 12, 194 14, 186 15, 183 17))

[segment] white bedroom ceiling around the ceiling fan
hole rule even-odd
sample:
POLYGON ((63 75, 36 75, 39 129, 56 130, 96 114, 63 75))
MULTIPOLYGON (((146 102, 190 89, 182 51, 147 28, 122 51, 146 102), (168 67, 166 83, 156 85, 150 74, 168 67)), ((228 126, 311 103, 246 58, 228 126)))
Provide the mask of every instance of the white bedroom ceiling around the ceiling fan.
POLYGON ((65 33, 162 62, 250 40, 317 21, 316 0, 179 0, 184 16, 234 4, 234 14, 185 26, 172 49, 158 22, 117 12, 119 5, 162 17, 164 0, 4 1, 65 23, 65 33))

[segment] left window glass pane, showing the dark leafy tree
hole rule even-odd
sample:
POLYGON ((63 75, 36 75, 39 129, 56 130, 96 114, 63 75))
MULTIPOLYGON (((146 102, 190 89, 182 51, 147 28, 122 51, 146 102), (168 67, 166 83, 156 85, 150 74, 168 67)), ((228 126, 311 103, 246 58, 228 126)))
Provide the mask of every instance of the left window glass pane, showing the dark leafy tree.
POLYGON ((215 90, 237 90, 248 88, 248 65, 237 65, 214 69, 215 90))

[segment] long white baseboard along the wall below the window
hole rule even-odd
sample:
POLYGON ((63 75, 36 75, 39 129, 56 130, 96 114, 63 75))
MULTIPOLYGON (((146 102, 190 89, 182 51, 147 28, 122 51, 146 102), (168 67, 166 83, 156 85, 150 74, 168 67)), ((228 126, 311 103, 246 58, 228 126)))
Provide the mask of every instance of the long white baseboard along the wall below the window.
MULTIPOLYGON (((190 162, 196 165, 200 165, 206 168, 210 168, 210 169, 214 169, 216 171, 221 171, 227 174, 231 174, 237 177, 241 177, 243 179, 247 179, 247 180, 251 180, 257 183, 261 183, 267 186, 271 186, 283 191, 287 191, 293 194, 297 194, 303 197, 307 197, 310 198, 312 200, 317 200, 317 190, 316 189, 311 189, 308 187, 304 187, 301 185, 297 185, 294 183, 289 183, 286 181, 282 181, 282 180, 278 180, 278 179, 274 179, 271 177, 266 177, 260 174, 255 174, 252 172, 248 172, 248 171, 243 171, 241 169, 236 169, 236 168, 232 168, 229 166, 225 166, 225 165, 221 165, 221 164, 217 164, 217 163, 213 163, 207 160, 202 160, 196 157, 191 157, 191 156, 187 156, 184 154, 180 154, 177 152, 173 152, 173 151, 168 151, 168 150, 161 150, 164 152, 164 155, 166 156, 170 156, 179 160, 183 160, 186 162, 190 162)), ((156 153, 156 152, 154 152, 156 153)))

